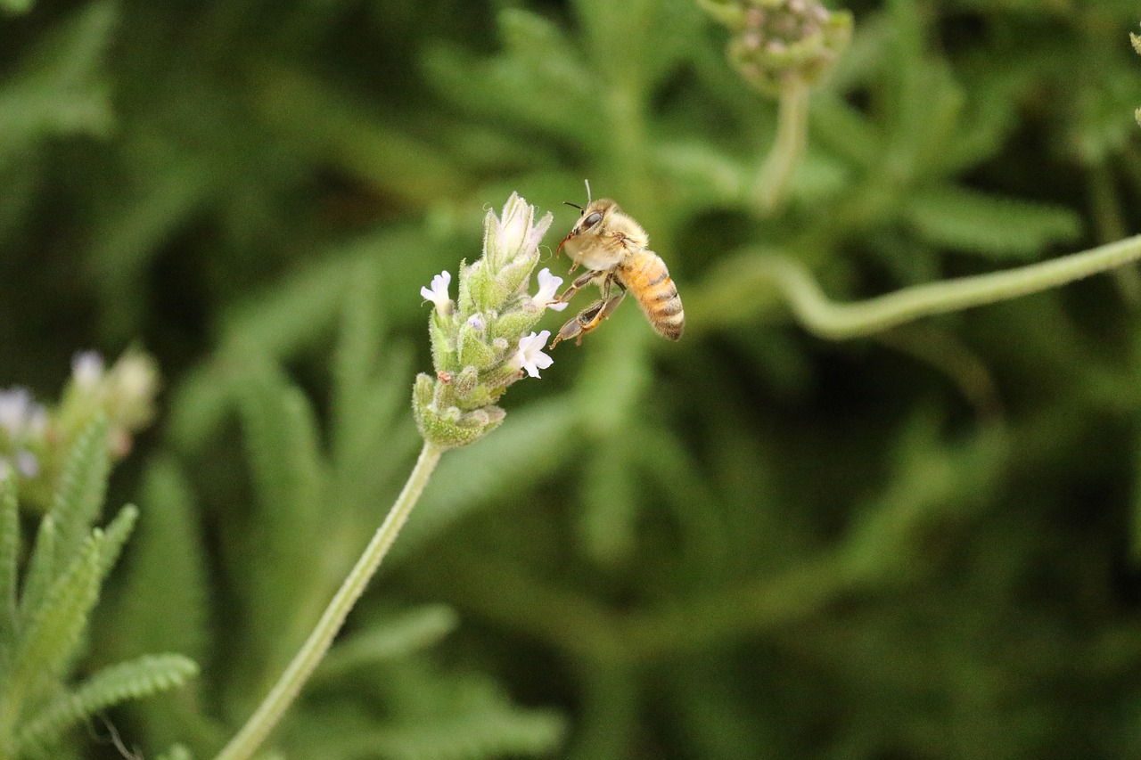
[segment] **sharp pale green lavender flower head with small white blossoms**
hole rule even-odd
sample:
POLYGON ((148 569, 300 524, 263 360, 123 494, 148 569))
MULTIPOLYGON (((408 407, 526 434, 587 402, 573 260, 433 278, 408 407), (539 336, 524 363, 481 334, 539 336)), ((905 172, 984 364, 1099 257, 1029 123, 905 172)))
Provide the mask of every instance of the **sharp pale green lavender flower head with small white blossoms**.
POLYGON ((550 366, 542 353, 550 333, 527 333, 561 280, 544 270, 540 294, 532 297, 527 289, 551 220, 547 213, 535 221, 534 207, 512 193, 500 217, 488 211, 484 219, 483 257, 460 264, 455 301, 448 297, 447 272, 421 289, 435 305, 428 326, 436 377, 416 377, 412 406, 429 443, 454 447, 477 440, 503 421, 495 402, 508 386, 524 371, 537 378, 550 366))

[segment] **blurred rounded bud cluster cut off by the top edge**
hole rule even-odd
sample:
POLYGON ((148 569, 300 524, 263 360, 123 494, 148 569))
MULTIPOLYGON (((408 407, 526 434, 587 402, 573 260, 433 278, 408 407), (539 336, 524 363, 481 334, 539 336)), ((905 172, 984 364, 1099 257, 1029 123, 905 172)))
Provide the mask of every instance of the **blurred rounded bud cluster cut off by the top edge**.
POLYGON ((852 17, 817 0, 701 0, 729 27, 729 60, 751 86, 778 95, 790 78, 815 84, 848 47, 852 17))

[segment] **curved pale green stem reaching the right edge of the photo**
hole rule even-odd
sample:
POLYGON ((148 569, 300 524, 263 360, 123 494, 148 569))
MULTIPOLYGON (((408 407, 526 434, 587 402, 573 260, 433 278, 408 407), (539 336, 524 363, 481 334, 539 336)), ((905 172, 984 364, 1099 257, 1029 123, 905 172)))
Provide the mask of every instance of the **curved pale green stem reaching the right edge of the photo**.
POLYGON ((823 338, 868 335, 932 314, 958 312, 1057 288, 1141 259, 1141 235, 1049 261, 946 280, 853 304, 828 300, 808 269, 783 258, 755 261, 754 275, 775 282, 800 323, 823 338))

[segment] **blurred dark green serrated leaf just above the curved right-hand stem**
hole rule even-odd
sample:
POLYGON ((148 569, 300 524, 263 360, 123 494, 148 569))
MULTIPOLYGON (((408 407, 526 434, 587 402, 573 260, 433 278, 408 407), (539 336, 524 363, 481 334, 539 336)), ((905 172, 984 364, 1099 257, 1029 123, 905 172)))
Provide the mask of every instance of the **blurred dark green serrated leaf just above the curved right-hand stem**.
POLYGON ((904 218, 929 242, 993 259, 1033 259, 1082 232, 1079 217, 1067 208, 962 187, 919 192, 905 203, 904 218))

